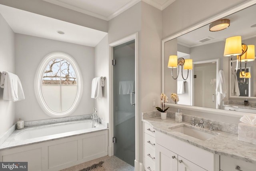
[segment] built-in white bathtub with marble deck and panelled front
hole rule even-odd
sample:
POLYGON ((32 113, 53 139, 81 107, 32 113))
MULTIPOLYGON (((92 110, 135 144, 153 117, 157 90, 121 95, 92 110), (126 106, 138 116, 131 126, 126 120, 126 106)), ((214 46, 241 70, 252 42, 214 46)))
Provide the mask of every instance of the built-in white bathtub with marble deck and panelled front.
POLYGON ((27 161, 28 171, 61 170, 105 155, 108 128, 92 128, 90 120, 15 130, 0 145, 0 162, 27 161))

